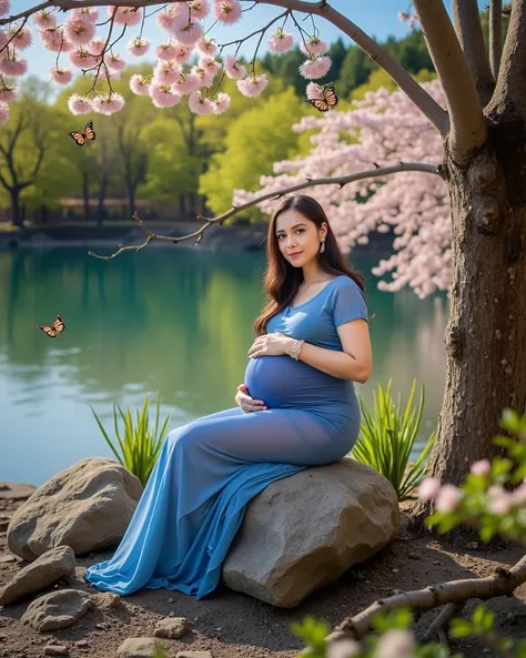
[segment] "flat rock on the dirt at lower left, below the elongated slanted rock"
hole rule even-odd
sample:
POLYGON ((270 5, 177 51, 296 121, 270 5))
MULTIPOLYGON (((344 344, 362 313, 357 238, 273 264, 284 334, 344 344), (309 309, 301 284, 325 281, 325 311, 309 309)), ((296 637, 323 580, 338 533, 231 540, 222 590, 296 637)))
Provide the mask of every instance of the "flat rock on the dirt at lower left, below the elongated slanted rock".
POLYGON ((22 615, 21 621, 32 626, 34 630, 40 632, 68 628, 92 607, 93 601, 84 591, 60 589, 34 599, 22 615))

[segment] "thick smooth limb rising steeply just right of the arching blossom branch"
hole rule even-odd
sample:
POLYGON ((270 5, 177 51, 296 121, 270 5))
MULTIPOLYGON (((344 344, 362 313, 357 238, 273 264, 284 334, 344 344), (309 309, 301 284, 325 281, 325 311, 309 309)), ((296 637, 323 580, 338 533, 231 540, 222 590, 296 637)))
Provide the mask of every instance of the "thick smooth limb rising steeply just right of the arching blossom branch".
POLYGON ((486 140, 484 115, 475 82, 443 0, 414 0, 413 6, 444 87, 449 109, 452 158, 457 164, 466 165, 486 140))

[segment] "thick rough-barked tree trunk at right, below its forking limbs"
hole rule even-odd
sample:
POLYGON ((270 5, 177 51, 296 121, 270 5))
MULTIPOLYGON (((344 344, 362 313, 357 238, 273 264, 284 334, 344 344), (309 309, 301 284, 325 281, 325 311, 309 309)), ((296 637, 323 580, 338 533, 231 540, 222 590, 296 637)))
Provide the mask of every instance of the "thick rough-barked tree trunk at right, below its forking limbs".
MULTIPOLYGON (((453 271, 445 396, 428 472, 444 484, 461 484, 469 464, 500 453, 492 439, 504 408, 525 412, 526 130, 513 117, 494 121, 467 170, 447 152, 444 161, 453 271)), ((419 500, 414 519, 431 510, 419 500)))

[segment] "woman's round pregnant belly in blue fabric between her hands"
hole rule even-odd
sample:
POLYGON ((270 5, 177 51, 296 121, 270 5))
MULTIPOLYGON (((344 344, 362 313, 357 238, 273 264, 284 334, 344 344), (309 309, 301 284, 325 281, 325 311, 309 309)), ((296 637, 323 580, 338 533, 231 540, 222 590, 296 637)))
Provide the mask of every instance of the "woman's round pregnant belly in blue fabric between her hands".
POLYGON ((290 356, 251 358, 244 383, 249 394, 269 408, 346 404, 354 395, 351 382, 338 379, 290 356))

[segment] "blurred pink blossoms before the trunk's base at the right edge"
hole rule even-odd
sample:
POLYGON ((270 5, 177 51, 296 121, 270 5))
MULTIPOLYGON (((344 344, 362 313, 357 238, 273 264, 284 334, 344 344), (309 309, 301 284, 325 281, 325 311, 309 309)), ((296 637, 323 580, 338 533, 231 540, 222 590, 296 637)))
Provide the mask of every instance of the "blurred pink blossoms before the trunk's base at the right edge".
MULTIPOLYGON (((489 478, 492 464, 489 459, 479 459, 472 464, 469 470, 473 475, 489 478)), ((424 500, 434 500, 437 512, 455 512, 464 498, 462 489, 451 484, 443 485, 436 477, 425 478, 418 493, 424 500)), ((525 507, 526 479, 513 492, 508 492, 502 485, 492 484, 486 492, 485 505, 487 512, 497 516, 508 514, 514 508, 525 507)))

